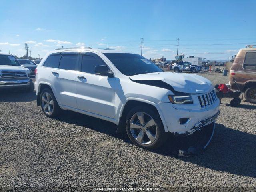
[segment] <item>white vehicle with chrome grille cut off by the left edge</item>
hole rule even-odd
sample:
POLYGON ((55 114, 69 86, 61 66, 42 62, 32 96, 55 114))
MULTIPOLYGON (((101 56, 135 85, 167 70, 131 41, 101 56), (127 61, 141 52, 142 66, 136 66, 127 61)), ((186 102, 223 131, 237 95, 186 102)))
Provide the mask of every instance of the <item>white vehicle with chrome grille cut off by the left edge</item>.
POLYGON ((29 76, 30 70, 20 66, 13 55, 0 54, 0 90, 20 88, 32 92, 34 84, 29 76))

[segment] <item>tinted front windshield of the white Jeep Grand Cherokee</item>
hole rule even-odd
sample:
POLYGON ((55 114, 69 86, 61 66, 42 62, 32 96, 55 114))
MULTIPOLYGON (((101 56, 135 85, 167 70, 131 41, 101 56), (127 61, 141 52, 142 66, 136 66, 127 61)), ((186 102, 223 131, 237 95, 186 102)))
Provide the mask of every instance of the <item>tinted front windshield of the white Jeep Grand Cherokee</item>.
POLYGON ((163 72, 156 64, 138 54, 104 53, 104 55, 122 74, 127 76, 163 72))

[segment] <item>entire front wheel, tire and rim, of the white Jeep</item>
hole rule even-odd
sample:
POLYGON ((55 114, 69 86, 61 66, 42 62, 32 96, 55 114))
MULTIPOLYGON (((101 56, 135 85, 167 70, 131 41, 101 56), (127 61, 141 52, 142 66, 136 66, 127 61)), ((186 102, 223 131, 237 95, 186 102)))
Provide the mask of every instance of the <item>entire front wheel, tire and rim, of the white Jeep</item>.
POLYGON ((162 120, 147 106, 137 106, 128 112, 126 132, 135 145, 145 149, 159 148, 167 139, 162 120))

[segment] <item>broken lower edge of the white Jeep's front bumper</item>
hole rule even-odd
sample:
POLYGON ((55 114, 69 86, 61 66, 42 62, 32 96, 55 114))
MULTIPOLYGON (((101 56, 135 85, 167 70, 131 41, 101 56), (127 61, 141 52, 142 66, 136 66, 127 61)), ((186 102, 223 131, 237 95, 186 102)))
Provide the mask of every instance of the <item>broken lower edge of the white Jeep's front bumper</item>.
POLYGON ((219 114, 220 114, 220 111, 218 111, 218 113, 216 113, 214 116, 196 123, 192 129, 190 129, 188 131, 184 131, 184 132, 174 132, 174 135, 182 135, 182 136, 192 135, 194 132, 199 130, 201 127, 209 125, 212 122, 215 122, 215 120, 218 118, 219 114))

